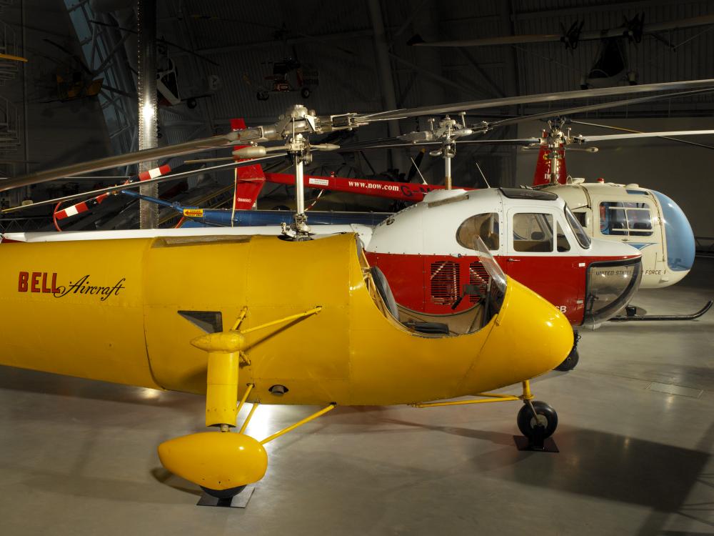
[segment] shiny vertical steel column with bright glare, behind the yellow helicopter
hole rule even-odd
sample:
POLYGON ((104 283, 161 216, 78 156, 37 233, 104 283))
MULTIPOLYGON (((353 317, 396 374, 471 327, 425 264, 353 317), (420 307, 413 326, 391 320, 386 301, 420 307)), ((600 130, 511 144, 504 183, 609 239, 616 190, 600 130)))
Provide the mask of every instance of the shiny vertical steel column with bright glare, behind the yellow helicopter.
MULTIPOLYGON (((139 97, 139 149, 158 147, 156 103, 156 0, 136 0, 136 29, 139 31, 137 96, 139 97)), ((139 171, 156 167, 156 162, 139 164, 139 171)), ((158 197, 159 186, 142 186, 139 193, 158 197)), ((156 204, 139 202, 139 227, 153 229, 159 220, 156 204)))

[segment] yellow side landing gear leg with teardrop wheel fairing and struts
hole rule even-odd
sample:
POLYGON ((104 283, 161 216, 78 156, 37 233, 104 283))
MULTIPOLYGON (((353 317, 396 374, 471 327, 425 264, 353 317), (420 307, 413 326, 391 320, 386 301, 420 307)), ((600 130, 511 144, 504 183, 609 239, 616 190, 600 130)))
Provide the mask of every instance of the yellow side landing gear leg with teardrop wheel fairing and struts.
MULTIPOLYGON (((263 443, 273 437, 258 442, 243 433, 253 417, 257 403, 253 405, 241 431, 230 432, 231 428, 236 427, 238 412, 253 389, 253 384, 247 384, 240 405, 236 407, 239 370, 241 365, 250 364, 246 354, 248 342, 245 335, 258 329, 317 314, 321 309, 322 307, 315 307, 306 312, 240 330, 238 328, 248 311, 247 307, 243 307, 232 329, 206 334, 191 341, 193 346, 208 353, 206 426, 218 427, 220 432, 184 435, 161 443, 159 459, 166 469, 201 486, 206 493, 220 500, 230 499, 246 485, 263 478, 268 467, 268 455, 263 448, 263 443)), ((329 409, 331 410, 332 407, 329 409)), ((329 410, 323 410, 325 411, 329 410)), ((308 417, 304 422, 315 417, 318 415, 308 417)), ((303 422, 296 426, 301 424, 303 422)), ((278 435, 288 431, 283 430, 278 432, 278 435)))

